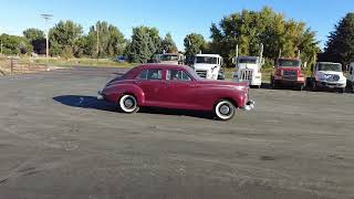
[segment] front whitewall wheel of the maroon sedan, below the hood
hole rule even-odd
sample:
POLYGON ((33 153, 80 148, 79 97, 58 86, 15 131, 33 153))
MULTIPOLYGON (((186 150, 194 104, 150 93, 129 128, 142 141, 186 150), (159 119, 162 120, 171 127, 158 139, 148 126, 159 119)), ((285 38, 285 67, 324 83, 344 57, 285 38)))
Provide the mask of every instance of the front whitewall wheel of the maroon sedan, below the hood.
POLYGON ((219 101, 214 107, 214 113, 216 117, 220 121, 228 121, 235 116, 236 107, 227 100, 219 101))

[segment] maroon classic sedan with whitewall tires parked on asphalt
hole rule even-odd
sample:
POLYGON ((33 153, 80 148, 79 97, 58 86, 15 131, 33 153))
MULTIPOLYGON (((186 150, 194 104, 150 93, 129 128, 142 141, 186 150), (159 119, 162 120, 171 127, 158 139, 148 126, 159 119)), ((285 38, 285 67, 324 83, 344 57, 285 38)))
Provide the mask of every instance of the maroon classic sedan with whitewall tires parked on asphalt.
POLYGON ((248 83, 200 78, 189 66, 145 64, 110 81, 97 98, 117 103, 125 113, 153 106, 208 111, 227 121, 237 108, 253 108, 248 90, 248 83))

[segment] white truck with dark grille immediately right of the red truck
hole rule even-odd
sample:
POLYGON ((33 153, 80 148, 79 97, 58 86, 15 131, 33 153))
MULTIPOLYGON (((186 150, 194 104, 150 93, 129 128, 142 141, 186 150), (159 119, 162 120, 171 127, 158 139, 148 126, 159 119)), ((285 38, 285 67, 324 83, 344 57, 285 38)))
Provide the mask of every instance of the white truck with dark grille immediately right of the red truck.
POLYGON ((313 91, 320 88, 339 90, 340 93, 345 92, 346 77, 343 74, 342 64, 333 62, 317 62, 312 70, 313 91))

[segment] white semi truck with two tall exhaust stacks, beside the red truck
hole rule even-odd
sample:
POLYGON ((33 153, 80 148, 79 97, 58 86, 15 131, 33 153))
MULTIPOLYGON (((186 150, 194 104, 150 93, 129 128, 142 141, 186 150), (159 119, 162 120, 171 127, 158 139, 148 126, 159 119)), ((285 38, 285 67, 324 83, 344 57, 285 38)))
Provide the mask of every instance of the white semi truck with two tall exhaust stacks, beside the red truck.
POLYGON ((236 48, 236 57, 233 60, 236 67, 233 72, 233 81, 249 82, 250 86, 261 87, 262 73, 261 67, 264 64, 263 44, 260 48, 259 56, 239 56, 238 45, 236 48))

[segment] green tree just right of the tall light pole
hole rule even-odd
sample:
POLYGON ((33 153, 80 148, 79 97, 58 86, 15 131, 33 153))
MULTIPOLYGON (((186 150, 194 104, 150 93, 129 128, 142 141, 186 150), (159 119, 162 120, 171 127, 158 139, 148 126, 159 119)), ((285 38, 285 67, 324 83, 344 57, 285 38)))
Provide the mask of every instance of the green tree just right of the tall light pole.
POLYGON ((74 51, 76 40, 83 34, 82 27, 73 21, 60 21, 50 30, 51 54, 67 55, 69 48, 74 51), (65 51, 64 51, 65 50, 65 51))

